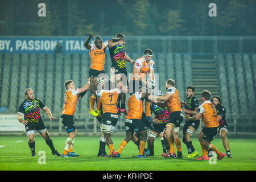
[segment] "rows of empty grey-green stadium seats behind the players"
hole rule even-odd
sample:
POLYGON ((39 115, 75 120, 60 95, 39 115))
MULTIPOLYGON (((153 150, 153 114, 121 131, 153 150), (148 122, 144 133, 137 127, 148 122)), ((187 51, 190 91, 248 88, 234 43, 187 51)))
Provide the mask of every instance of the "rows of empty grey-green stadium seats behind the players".
MULTIPOLYGON (((130 54, 136 60, 142 55, 130 54)), ((190 55, 156 54, 155 73, 159 73, 159 89, 165 90, 165 81, 173 78, 185 99, 185 87, 193 85, 192 59, 190 55)), ((218 86, 222 104, 227 111, 255 111, 256 55, 218 55, 218 86)), ((112 62, 105 56, 105 70, 109 75, 112 62)), ((35 96, 60 113, 64 99, 64 81, 72 79, 77 87, 86 84, 90 67, 88 53, 82 55, 44 54, 3 54, 0 55, 0 105, 7 106, 9 113, 16 113, 24 100, 24 90, 34 89, 35 96)), ((133 71, 133 64, 126 63, 127 72, 133 71)), ((88 114, 89 94, 77 102, 79 113, 88 114)), ((79 115, 78 118, 84 118, 79 115)))

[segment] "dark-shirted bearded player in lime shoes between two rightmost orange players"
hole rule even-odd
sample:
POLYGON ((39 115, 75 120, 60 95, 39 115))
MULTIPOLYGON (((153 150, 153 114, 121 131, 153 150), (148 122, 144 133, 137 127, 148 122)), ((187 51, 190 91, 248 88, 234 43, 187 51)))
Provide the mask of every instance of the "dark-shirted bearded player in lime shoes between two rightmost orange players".
MULTIPOLYGON (((187 86, 186 96, 187 99, 184 102, 181 102, 181 108, 184 107, 183 111, 185 114, 192 117, 196 114, 196 111, 199 107, 199 101, 195 98, 195 87, 194 86, 187 86)), ((187 158, 194 158, 198 155, 198 152, 192 145, 191 137, 195 133, 196 129, 199 127, 200 120, 197 121, 189 121, 185 122, 183 126, 183 133, 182 133, 182 141, 186 144, 188 148, 188 155, 187 158)))

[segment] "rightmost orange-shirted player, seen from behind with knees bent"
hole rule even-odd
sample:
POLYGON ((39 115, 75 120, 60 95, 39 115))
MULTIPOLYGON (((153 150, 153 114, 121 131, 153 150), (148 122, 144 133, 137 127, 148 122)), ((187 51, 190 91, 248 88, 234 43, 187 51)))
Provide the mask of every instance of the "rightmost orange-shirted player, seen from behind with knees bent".
MULTIPOLYGON (((220 152, 211 143, 215 135, 218 133, 219 125, 217 120, 217 111, 212 102, 210 102, 210 97, 212 97, 212 94, 208 90, 203 90, 203 92, 201 93, 201 102, 203 104, 198 107, 196 115, 194 115, 193 117, 189 117, 189 115, 186 115, 187 117, 185 118, 185 120, 187 122, 199 120, 199 118, 202 116, 205 127, 199 134, 199 142, 201 144, 201 147, 204 148, 204 150, 215 151, 218 155, 218 160, 221 160, 222 158, 224 158, 225 153, 220 152)), ((197 160, 209 160, 207 152, 204 152, 203 156, 197 158, 197 160)))

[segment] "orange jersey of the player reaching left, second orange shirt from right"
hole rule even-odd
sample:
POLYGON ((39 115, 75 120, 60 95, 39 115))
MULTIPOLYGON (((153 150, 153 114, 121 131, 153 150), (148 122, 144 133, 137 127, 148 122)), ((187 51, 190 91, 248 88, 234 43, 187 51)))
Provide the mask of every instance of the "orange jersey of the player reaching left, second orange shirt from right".
POLYGON ((167 100, 170 114, 174 111, 181 111, 179 92, 175 87, 170 87, 166 90, 166 93, 171 93, 172 96, 167 100))

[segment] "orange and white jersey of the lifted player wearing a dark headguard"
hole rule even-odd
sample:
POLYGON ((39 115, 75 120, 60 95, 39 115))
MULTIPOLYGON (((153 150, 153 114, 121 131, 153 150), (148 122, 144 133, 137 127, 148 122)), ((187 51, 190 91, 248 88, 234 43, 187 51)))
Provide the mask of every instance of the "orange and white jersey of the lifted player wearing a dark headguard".
POLYGON ((135 77, 135 68, 138 68, 140 70, 139 76, 142 77, 142 80, 146 80, 146 76, 148 71, 150 69, 154 69, 155 63, 153 60, 147 61, 145 60, 144 56, 139 57, 134 64, 133 67, 133 76, 131 77, 131 80, 138 80, 138 78, 135 77))

